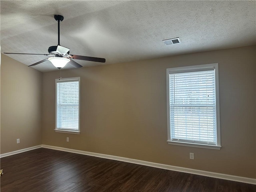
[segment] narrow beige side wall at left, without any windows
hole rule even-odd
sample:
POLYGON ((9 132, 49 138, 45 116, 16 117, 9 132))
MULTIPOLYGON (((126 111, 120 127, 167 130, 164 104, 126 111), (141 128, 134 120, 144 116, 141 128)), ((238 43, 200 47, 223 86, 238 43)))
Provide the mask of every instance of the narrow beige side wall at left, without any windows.
POLYGON ((42 73, 1 54, 0 76, 1 154, 42 144, 42 73))

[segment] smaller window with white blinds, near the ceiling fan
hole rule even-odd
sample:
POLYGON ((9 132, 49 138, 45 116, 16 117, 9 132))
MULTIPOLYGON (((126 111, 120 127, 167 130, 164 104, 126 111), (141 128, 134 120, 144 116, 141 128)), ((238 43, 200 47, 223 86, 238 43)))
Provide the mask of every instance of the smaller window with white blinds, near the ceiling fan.
POLYGON ((79 134, 80 77, 56 79, 56 132, 79 134))

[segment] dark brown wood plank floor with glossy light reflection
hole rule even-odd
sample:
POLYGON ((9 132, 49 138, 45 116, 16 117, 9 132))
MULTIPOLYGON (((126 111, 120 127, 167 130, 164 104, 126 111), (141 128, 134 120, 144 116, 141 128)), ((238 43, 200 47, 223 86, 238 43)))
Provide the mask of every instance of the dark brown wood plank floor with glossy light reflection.
POLYGON ((256 186, 39 148, 1 158, 1 192, 256 192, 256 186))

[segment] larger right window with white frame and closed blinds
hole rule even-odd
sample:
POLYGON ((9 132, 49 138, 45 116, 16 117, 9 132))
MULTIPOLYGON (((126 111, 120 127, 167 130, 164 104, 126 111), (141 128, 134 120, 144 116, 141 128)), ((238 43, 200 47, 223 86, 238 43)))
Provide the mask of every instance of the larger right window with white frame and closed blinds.
POLYGON ((167 69, 168 143, 220 149, 218 64, 167 69))

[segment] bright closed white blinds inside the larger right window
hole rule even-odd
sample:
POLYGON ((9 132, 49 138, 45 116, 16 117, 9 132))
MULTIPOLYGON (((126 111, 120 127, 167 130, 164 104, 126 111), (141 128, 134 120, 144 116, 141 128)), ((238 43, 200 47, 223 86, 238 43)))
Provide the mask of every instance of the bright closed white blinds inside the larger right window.
POLYGON ((171 139, 216 145, 214 68, 169 74, 169 86, 171 139))

